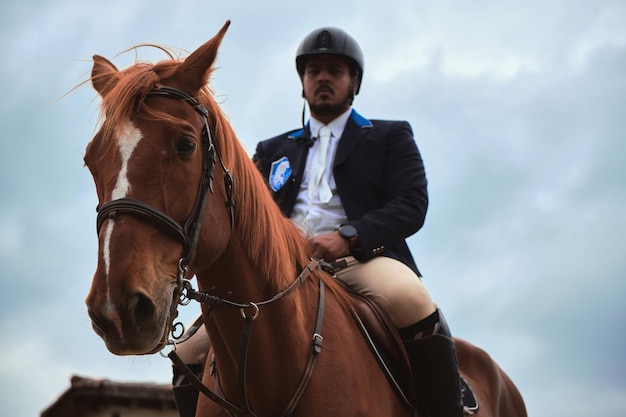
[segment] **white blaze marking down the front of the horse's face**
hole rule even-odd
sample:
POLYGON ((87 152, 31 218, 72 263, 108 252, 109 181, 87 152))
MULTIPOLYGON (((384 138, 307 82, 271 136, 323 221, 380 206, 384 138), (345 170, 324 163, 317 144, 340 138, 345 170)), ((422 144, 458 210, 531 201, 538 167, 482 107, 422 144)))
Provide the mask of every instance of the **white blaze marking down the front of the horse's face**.
MULTIPOLYGON (((132 123, 126 123, 126 126, 122 129, 120 137, 118 138, 118 150, 120 152, 120 158, 122 159, 122 166, 120 172, 117 174, 117 182, 115 188, 111 193, 111 200, 117 200, 118 198, 124 198, 128 196, 128 192, 131 189, 130 181, 128 180, 128 162, 133 154, 133 151, 137 147, 137 144, 141 140, 141 131, 137 129, 132 123)), ((104 265, 107 276, 107 291, 109 288, 109 268, 111 265, 111 235, 113 234, 113 227, 115 226, 115 220, 109 219, 107 221, 106 229, 104 231, 104 243, 102 249, 102 256, 104 257, 104 265)), ((107 295, 110 305, 110 294, 107 295)))

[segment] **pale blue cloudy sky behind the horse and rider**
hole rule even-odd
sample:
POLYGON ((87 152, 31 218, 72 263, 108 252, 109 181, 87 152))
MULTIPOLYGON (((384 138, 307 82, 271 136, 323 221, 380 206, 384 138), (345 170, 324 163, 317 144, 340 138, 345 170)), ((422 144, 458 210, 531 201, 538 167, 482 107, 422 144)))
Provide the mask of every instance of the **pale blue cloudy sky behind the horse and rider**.
MULTIPOLYGON (((452 332, 534 417, 618 417, 626 398, 626 1, 41 0, 0 4, 0 404, 36 416, 74 374, 170 381, 118 357, 84 299, 97 199, 83 166, 99 54, 186 56, 232 20, 212 88, 252 154, 300 126, 294 56, 321 26, 365 55, 355 108, 411 123, 429 180, 409 239, 452 332), (173 8, 175 6, 175 8, 173 8)), ((197 306, 181 311, 191 321, 197 306)))

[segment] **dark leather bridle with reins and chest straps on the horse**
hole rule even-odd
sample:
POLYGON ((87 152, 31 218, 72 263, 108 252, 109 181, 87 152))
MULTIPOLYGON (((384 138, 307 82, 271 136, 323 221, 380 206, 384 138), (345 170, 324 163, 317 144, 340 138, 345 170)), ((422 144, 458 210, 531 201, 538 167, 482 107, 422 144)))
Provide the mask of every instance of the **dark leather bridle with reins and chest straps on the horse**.
MULTIPOLYGON (((228 301, 222 299, 220 297, 216 297, 210 295, 206 292, 195 291, 192 288, 191 282, 186 278, 186 273, 189 269, 189 264, 193 255, 196 251, 196 247, 198 245, 198 239, 200 236, 200 225, 202 221, 202 216, 204 214, 206 204, 207 204, 207 196, 209 193, 213 193, 213 175, 215 171, 216 162, 219 161, 222 170, 224 171, 224 186, 226 189, 226 206, 228 207, 230 213, 230 225, 231 229, 234 226, 234 206, 235 201, 233 197, 233 178, 230 174, 229 170, 224 165, 222 160, 222 156, 220 154, 217 143, 213 141, 213 137, 211 135, 211 128, 209 126, 208 116, 209 113, 207 109, 201 105, 195 98, 185 93, 182 90, 173 87, 159 86, 154 87, 147 96, 158 96, 158 97, 166 97, 172 99, 183 100, 190 104, 196 112, 198 112, 204 121, 204 127, 202 130, 202 149, 203 149, 203 157, 202 157, 202 175, 200 177, 200 182, 198 184, 198 193, 196 195, 196 200, 193 205, 193 209, 184 223, 179 223, 174 220, 172 217, 163 213, 161 210, 144 203, 142 201, 136 200, 134 198, 119 198, 116 200, 107 201, 101 207, 98 207, 97 219, 96 219, 96 230, 98 234, 100 234, 100 230, 102 228, 103 223, 107 219, 115 219, 120 214, 128 214, 134 215, 137 217, 141 217, 147 221, 151 221, 155 223, 157 226, 161 226, 167 231, 171 232, 174 236, 178 238, 183 244, 183 253, 181 255, 180 260, 178 261, 178 274, 176 277, 176 287, 173 291, 173 299, 170 307, 168 324, 165 328, 163 338, 158 346, 149 353, 160 352, 167 345, 175 345, 176 343, 181 343, 185 340, 186 337, 190 337, 189 332, 176 336, 174 335, 175 329, 182 324, 174 323, 174 320, 178 316, 178 306, 186 305, 191 300, 198 301, 203 304, 208 304, 211 307, 215 306, 226 306, 226 307, 234 307, 238 308, 241 311, 241 315, 245 321, 244 331, 242 334, 241 341, 241 350, 239 354, 239 371, 238 371, 238 380, 239 380, 239 391, 240 396, 243 398, 243 406, 238 407, 233 403, 226 400, 222 395, 219 395, 213 391, 211 391, 207 386, 205 386, 202 381, 200 381, 194 374, 189 370, 189 368, 182 362, 180 357, 176 354, 175 349, 172 350, 168 357, 172 360, 174 365, 184 373, 187 378, 198 388, 200 392, 209 397, 211 400, 222 406, 231 416, 250 416, 254 417, 255 414, 250 409, 248 404, 248 396, 246 390, 246 364, 247 364, 247 350, 249 344, 249 336, 252 328, 252 322, 256 319, 259 313, 259 307, 270 304, 274 301, 277 301, 292 292, 294 292, 300 285, 302 285, 307 278, 311 275, 311 273, 318 269, 324 268, 324 264, 317 259, 312 259, 302 270, 302 272, 298 275, 295 281, 287 287, 285 290, 277 293, 273 297, 265 301, 259 301, 256 303, 250 302, 246 304, 235 303, 232 301, 228 301), (252 314, 249 314, 251 311, 252 314), (174 340, 169 340, 169 334, 172 333, 172 337, 174 340), (189 336, 188 336, 189 335, 189 336)), ((300 382, 292 395, 290 401, 286 405, 283 410, 281 416, 291 416, 293 411, 295 410, 300 398, 302 397, 305 388, 307 387, 309 380, 313 374, 313 368, 315 366, 315 362, 317 356, 320 354, 322 350, 322 323, 324 317, 324 283, 320 279, 319 281, 319 300, 318 300, 318 311, 317 318, 315 323, 315 329, 313 331, 313 337, 311 340, 311 350, 309 354, 309 359, 305 366, 305 371, 300 379, 300 382)), ((219 381, 218 381, 219 387, 219 381)))

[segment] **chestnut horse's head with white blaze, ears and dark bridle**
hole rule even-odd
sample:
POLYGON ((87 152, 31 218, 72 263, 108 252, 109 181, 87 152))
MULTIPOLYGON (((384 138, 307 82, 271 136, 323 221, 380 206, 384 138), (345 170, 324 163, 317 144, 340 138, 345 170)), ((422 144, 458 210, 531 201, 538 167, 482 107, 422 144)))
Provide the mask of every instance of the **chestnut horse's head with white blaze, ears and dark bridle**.
POLYGON ((159 351, 177 314, 181 280, 227 245, 230 177, 213 181, 213 170, 228 173, 218 142, 230 127, 207 82, 228 25, 184 60, 120 71, 94 56, 102 123, 84 160, 99 200, 99 247, 86 303, 114 354, 159 351), (194 257, 197 248, 202 257, 194 257))

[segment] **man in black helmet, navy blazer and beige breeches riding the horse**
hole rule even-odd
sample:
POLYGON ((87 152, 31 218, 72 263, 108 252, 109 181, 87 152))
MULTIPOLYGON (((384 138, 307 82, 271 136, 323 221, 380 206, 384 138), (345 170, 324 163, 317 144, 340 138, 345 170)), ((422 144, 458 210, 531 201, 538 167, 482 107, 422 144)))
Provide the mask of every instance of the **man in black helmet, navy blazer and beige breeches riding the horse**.
MULTIPOLYGON (((459 417, 454 342, 405 241, 426 216, 424 165, 407 122, 368 120, 352 109, 363 63, 361 48, 343 30, 307 35, 296 69, 311 118, 259 142, 253 159, 285 216, 309 238, 312 256, 342 261, 347 267, 337 278, 387 311, 430 415, 459 417)), ((178 352, 183 359, 197 355, 185 344, 178 352)))

